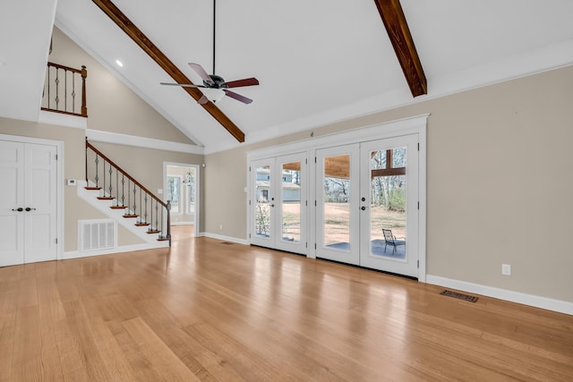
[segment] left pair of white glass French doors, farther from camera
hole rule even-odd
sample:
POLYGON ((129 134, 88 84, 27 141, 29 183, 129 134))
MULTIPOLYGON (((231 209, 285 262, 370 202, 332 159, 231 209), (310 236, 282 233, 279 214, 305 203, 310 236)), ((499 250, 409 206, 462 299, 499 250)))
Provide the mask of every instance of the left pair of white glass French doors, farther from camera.
POLYGON ((306 254, 306 154, 255 160, 250 167, 251 243, 306 254))

